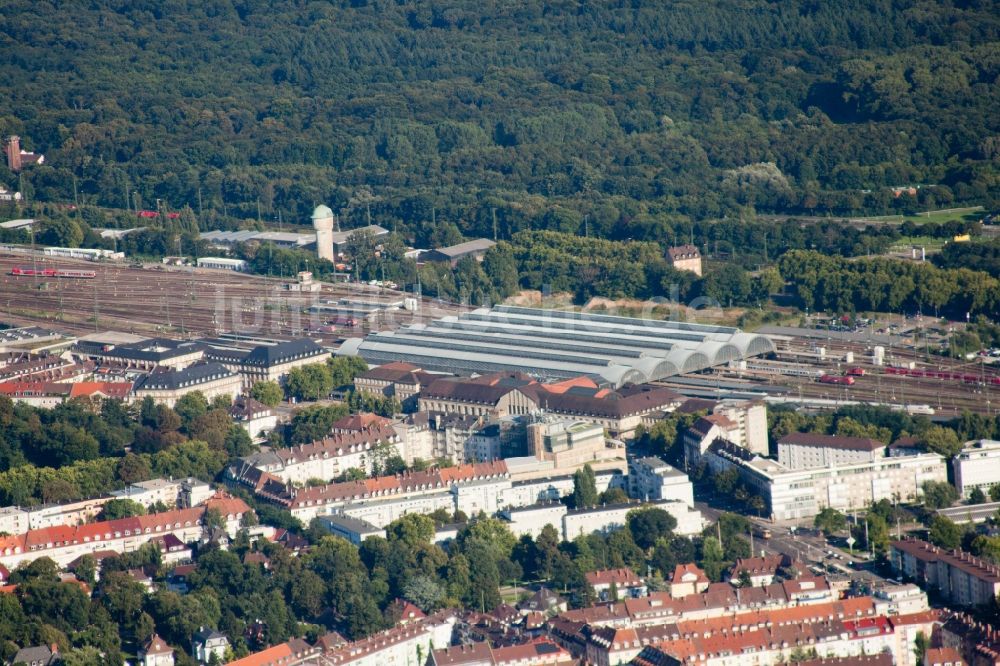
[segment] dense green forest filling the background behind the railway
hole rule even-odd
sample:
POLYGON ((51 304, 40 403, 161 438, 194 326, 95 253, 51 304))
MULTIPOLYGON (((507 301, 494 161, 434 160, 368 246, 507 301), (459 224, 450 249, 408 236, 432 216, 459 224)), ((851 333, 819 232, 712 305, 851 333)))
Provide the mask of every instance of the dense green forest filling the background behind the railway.
POLYGON ((0 184, 418 245, 993 206, 998 40, 988 0, 10 0, 0 133, 46 162, 0 184))

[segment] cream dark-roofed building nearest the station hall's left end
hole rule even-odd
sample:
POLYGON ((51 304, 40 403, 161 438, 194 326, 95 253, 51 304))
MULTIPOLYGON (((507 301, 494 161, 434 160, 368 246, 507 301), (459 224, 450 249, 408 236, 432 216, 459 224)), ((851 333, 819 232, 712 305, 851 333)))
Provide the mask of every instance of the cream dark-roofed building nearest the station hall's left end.
POLYGON ((205 357, 221 363, 243 377, 244 388, 257 382, 283 383, 288 372, 311 363, 322 363, 330 352, 310 338, 298 338, 275 344, 257 345, 252 349, 209 347, 205 357))

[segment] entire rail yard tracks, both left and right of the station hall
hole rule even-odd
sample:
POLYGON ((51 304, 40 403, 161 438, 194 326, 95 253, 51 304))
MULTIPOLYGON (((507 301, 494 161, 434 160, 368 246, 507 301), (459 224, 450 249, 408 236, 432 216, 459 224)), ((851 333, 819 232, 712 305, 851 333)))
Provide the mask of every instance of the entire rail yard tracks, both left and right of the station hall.
MULTIPOLYGON (((322 283, 316 291, 298 291, 289 288, 291 284, 288 279, 232 271, 93 262, 0 249, 4 319, 73 335, 99 330, 179 338, 308 332, 336 345, 345 338, 460 310, 430 299, 418 299, 415 308, 404 309, 399 304, 412 294, 365 284, 322 283), (337 314, 343 312, 359 314, 337 314)), ((931 354, 919 340, 901 335, 843 339, 803 329, 773 339, 774 358, 662 383, 699 397, 767 397, 772 403, 815 409, 873 403, 933 418, 950 418, 962 410, 996 414, 1000 407, 1000 366, 985 359, 931 354), (883 365, 873 362, 877 346, 885 350, 883 365)))

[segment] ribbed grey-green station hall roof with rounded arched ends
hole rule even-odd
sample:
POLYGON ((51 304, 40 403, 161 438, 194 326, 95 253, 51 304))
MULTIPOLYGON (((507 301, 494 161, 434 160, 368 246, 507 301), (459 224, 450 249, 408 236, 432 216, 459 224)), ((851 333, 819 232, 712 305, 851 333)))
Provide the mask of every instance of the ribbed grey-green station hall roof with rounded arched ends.
POLYGON ((617 388, 773 351, 766 336, 728 326, 498 305, 350 339, 337 354, 456 375, 590 375, 617 388))

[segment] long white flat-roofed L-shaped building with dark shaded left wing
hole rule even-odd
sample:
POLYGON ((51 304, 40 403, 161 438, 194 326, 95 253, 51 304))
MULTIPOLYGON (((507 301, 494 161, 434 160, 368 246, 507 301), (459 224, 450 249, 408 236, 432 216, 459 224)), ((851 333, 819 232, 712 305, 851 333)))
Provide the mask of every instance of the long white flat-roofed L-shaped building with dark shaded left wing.
POLYGON ((930 453, 794 470, 716 440, 705 460, 713 473, 737 470, 741 480, 763 497, 773 520, 810 518, 824 507, 850 511, 882 499, 912 502, 923 495, 927 481, 948 480, 944 460, 930 453))

